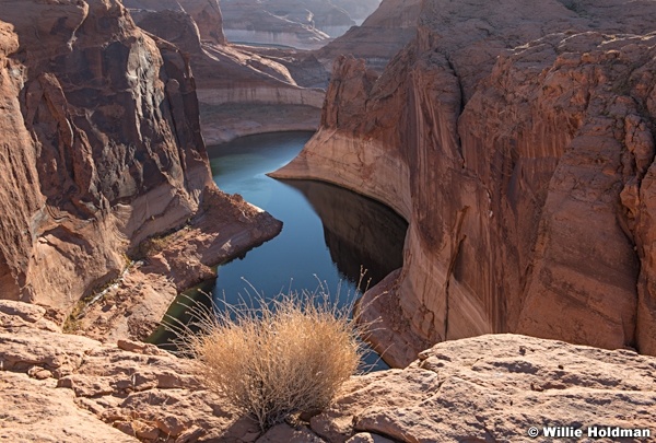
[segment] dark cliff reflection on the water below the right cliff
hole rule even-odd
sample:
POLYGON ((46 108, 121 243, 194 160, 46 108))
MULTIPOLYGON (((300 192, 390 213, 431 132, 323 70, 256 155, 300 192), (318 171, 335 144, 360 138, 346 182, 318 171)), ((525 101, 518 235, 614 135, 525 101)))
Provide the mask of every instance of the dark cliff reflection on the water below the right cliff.
POLYGON ((349 280, 358 281, 365 267, 365 280, 376 284, 403 265, 408 223, 395 211, 331 184, 280 182, 300 190, 319 215, 330 258, 349 280))

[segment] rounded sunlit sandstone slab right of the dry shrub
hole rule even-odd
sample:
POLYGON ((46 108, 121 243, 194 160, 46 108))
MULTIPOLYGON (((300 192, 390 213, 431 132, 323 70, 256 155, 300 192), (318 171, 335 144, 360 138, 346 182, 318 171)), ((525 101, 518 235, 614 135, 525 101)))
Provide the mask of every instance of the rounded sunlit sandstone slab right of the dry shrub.
POLYGON ((345 390, 312 419, 330 442, 388 441, 361 432, 399 442, 522 442, 531 441, 530 427, 593 425, 651 429, 653 439, 656 359, 482 336, 440 343, 407 369, 353 378, 345 390))

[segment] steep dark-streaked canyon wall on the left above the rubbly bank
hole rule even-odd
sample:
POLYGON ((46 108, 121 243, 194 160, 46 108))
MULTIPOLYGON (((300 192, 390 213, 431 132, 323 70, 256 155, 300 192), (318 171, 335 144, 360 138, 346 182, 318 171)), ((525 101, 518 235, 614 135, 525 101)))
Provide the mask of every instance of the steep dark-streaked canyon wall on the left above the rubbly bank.
POLYGON ((215 194, 195 79, 118 1, 0 5, 0 296, 66 315, 215 194))

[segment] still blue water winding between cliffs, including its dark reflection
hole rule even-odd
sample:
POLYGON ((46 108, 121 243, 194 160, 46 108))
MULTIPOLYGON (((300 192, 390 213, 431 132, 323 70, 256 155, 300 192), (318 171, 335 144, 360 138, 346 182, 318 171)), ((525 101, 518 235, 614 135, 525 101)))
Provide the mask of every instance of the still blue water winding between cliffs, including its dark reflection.
MULTIPOLYGON (((251 287, 272 298, 314 291, 320 282, 333 301, 345 303, 358 290, 361 268, 373 285, 401 267, 408 226, 393 210, 333 185, 266 175, 295 158, 311 137, 266 133, 208 148, 223 191, 241 194, 283 222, 277 237, 220 266, 218 278, 202 285, 215 300, 236 304, 254 294, 251 287)), ((377 355, 366 360, 373 364, 377 355)), ((375 369, 384 368, 379 362, 375 369)))

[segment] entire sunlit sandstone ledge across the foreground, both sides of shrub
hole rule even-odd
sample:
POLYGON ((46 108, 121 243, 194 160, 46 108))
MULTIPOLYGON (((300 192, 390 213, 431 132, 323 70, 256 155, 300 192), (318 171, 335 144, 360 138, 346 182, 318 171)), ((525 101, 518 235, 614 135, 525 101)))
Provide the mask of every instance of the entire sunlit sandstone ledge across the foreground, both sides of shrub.
POLYGON ((307 425, 260 435, 201 387, 188 361, 150 345, 65 335, 45 314, 0 301, 0 440, 516 442, 528 441, 531 427, 656 423, 656 358, 489 335, 440 343, 403 370, 353 377, 307 425))

